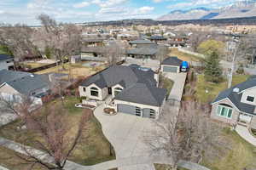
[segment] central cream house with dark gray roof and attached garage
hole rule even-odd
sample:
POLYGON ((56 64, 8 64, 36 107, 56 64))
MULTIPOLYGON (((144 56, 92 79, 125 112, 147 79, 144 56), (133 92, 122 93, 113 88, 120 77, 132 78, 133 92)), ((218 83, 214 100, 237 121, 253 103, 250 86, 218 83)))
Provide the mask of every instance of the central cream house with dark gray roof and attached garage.
POLYGON ((113 98, 115 111, 158 118, 166 100, 166 89, 157 88, 158 74, 137 65, 113 65, 79 86, 80 96, 104 100, 113 98))

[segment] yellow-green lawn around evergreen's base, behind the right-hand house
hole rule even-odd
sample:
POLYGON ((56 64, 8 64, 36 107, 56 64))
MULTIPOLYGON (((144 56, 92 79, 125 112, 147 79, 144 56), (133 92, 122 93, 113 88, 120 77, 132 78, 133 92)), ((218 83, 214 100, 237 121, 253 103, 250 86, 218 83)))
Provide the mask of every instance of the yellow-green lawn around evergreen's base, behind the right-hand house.
MULTIPOLYGON (((245 82, 247 78, 250 77, 249 75, 234 75, 232 86, 240 83, 245 82)), ((196 87, 195 87, 195 97, 198 101, 203 103, 211 102, 215 99, 219 92, 223 91, 224 89, 228 88, 228 82, 207 82, 203 75, 197 76, 196 87)))

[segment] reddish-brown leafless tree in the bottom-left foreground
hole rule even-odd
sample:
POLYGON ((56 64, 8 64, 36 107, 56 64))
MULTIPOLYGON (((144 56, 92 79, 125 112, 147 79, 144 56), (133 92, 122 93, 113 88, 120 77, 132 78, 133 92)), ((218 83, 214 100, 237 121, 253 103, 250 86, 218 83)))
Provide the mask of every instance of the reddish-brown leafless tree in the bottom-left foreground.
POLYGON ((22 100, 19 99, 18 102, 4 98, 1 98, 1 100, 3 102, 2 109, 12 111, 19 116, 26 126, 26 130, 37 133, 42 137, 42 139, 24 139, 23 142, 41 150, 44 157, 42 157, 42 153, 36 153, 27 147, 22 148, 26 156, 17 156, 32 167, 39 164, 46 169, 62 170, 68 157, 79 143, 82 132, 88 128, 86 125, 90 119, 91 111, 84 111, 76 132, 70 135, 71 126, 69 126, 69 120, 63 116, 66 110, 62 105, 52 105, 32 112, 30 111, 31 98, 22 97, 22 100), (44 159, 45 156, 48 159, 44 159))

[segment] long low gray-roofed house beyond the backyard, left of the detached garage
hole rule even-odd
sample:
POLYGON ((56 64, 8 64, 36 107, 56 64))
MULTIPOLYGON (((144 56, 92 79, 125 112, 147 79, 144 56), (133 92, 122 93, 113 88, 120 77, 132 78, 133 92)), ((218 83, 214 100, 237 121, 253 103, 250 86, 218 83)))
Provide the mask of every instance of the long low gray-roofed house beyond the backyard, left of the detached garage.
POLYGON ((126 50, 127 57, 136 59, 155 59, 157 48, 131 48, 126 50))

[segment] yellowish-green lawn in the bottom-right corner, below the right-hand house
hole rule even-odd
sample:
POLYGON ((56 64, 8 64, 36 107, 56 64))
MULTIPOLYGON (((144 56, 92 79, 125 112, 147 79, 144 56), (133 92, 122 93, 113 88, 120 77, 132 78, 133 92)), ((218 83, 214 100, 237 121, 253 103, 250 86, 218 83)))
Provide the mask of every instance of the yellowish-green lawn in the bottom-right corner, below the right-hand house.
POLYGON ((255 169, 256 147, 241 139, 236 132, 228 128, 224 129, 224 137, 229 141, 231 150, 226 151, 223 156, 218 158, 203 160, 202 165, 212 170, 255 169))

